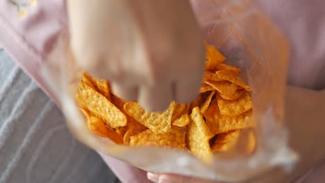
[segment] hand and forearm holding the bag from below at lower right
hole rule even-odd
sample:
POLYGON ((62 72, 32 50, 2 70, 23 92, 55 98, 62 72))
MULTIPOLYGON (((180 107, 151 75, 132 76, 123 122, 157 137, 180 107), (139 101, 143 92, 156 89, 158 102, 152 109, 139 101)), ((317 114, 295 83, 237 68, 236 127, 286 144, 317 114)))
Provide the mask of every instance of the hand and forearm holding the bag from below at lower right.
MULTIPOLYGON (((309 168, 325 159, 325 123, 324 108, 325 92, 310 89, 288 87, 285 108, 285 126, 289 130, 290 147, 300 155, 300 161, 291 173, 285 173, 281 168, 274 168, 256 177, 247 183, 292 182, 301 177, 309 168)), ((202 182, 212 183, 210 180, 201 180, 194 177, 184 177, 172 174, 147 173, 149 180, 174 182, 202 182)), ((214 183, 219 183, 215 181, 214 183)))

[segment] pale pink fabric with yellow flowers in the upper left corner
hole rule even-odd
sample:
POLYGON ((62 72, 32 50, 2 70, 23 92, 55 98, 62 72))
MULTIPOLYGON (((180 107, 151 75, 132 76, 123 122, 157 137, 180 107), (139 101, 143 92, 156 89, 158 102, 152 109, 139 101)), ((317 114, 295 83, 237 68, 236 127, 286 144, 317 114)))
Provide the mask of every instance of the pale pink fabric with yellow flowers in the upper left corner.
MULTIPOLYGON (((15 1, 27 3, 28 1, 15 1)), ((67 27, 65 1, 36 1, 35 6, 21 8, 26 17, 19 17, 9 0, 0 0, 0 44, 51 98, 38 72, 51 51, 60 30, 67 27)))

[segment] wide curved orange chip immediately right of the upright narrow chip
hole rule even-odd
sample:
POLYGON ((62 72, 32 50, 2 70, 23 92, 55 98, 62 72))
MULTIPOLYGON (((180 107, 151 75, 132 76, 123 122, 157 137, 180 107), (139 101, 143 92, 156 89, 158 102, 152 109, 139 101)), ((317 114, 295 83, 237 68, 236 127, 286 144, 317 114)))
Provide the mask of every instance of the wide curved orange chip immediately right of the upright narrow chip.
POLYGON ((224 116, 219 111, 217 100, 211 103, 204 116, 206 117, 206 125, 208 125, 208 128, 213 134, 222 134, 231 130, 240 130, 255 126, 251 110, 239 116, 224 116))

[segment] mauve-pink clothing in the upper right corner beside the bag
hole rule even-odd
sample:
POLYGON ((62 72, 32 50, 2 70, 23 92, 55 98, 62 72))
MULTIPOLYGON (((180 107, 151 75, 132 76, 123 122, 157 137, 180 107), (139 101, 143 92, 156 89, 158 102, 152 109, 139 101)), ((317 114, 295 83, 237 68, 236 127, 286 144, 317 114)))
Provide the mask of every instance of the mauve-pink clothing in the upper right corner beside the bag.
POLYGON ((325 1, 256 0, 288 37, 291 48, 290 84, 325 87, 325 1))

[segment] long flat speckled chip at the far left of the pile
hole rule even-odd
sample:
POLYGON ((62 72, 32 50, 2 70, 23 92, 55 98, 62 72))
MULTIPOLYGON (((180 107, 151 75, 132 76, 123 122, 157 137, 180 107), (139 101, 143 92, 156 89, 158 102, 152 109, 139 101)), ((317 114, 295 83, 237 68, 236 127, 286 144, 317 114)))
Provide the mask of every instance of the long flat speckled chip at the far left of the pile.
POLYGON ((96 92, 92 87, 84 85, 83 82, 79 85, 76 99, 81 107, 88 109, 111 128, 126 125, 126 116, 105 96, 96 92))

